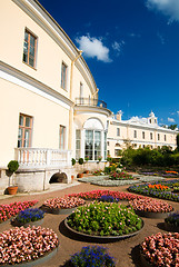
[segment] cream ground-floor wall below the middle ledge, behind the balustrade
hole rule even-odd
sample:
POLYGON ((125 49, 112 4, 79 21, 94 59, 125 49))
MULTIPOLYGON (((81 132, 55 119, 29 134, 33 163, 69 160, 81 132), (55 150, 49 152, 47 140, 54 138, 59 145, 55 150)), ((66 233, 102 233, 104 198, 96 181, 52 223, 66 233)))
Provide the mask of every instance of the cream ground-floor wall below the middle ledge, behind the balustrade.
POLYGON ((59 125, 68 130, 69 110, 3 79, 0 79, 0 96, 3 96, 0 105, 0 166, 7 166, 14 158, 19 113, 33 117, 31 147, 59 148, 59 125))

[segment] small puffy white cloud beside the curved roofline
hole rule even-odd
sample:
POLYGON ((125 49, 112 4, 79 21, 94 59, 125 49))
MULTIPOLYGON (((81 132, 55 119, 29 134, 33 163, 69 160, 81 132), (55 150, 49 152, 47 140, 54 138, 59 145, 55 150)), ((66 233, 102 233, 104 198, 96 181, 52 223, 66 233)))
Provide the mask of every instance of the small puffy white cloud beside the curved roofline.
POLYGON ((103 62, 111 62, 109 58, 109 49, 102 43, 101 39, 90 37, 89 34, 76 39, 79 49, 82 50, 83 56, 88 58, 97 58, 103 62))

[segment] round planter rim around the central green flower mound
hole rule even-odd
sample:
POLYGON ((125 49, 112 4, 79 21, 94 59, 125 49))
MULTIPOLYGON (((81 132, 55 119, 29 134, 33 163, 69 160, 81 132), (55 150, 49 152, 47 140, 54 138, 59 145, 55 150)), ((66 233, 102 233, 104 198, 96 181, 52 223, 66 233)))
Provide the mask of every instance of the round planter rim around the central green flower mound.
POLYGON ((77 230, 72 229, 68 225, 68 217, 64 219, 64 226, 72 234, 72 236, 77 236, 79 238, 83 238, 83 239, 89 240, 89 241, 99 241, 99 243, 117 241, 117 240, 120 240, 120 239, 125 239, 125 238, 136 236, 137 234, 139 234, 142 230, 143 225, 145 225, 145 222, 142 220, 142 227, 141 227, 140 230, 133 231, 131 234, 123 235, 123 236, 91 236, 91 235, 83 234, 83 233, 80 233, 80 231, 77 231, 77 230))

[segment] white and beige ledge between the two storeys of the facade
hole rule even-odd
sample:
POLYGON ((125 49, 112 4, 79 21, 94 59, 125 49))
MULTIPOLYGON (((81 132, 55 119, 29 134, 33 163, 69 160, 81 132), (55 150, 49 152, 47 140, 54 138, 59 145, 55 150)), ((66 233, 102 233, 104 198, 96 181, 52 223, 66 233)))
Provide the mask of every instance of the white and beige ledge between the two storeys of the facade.
POLYGON ((70 107, 73 106, 73 102, 70 99, 66 98, 54 89, 2 61, 0 61, 0 78, 8 80, 9 82, 12 82, 17 86, 23 87, 29 91, 44 97, 67 109, 70 109, 70 107))

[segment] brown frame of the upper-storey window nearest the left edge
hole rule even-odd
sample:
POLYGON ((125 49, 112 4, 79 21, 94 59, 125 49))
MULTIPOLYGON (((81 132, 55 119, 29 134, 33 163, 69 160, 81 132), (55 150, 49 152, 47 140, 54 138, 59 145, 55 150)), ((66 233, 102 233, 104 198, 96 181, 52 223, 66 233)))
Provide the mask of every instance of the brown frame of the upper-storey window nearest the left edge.
POLYGON ((26 65, 28 65, 28 66, 29 66, 30 68, 32 68, 32 69, 36 69, 36 67, 37 67, 37 43, 38 43, 38 37, 37 37, 33 32, 31 32, 29 29, 26 28, 26 29, 24 29, 24 39, 23 39, 23 56, 22 56, 22 62, 26 63, 26 65), (27 60, 27 61, 23 60, 23 57, 24 57, 26 33, 28 34, 28 42, 27 42, 27 43, 28 43, 28 53, 27 53, 28 60, 27 60), (30 46, 30 37, 34 38, 33 66, 29 63, 29 59, 30 59, 30 47, 31 47, 31 46, 30 46))

